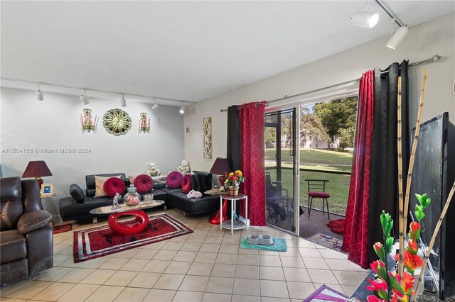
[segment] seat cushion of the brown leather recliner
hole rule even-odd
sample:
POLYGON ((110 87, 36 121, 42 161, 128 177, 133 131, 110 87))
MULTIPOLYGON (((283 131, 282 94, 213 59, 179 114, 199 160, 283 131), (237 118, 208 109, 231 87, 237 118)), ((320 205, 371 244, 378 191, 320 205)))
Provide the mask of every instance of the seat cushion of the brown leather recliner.
POLYGON ((27 256, 26 237, 18 230, 6 230, 0 234, 1 263, 11 262, 27 256))

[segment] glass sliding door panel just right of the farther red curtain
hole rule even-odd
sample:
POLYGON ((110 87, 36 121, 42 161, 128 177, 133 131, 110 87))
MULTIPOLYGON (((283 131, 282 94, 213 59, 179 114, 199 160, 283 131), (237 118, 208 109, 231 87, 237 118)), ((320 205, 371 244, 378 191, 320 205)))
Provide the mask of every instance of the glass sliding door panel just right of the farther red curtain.
POLYGON ((296 111, 265 115, 265 191, 267 224, 296 232, 294 179, 296 169, 296 111))

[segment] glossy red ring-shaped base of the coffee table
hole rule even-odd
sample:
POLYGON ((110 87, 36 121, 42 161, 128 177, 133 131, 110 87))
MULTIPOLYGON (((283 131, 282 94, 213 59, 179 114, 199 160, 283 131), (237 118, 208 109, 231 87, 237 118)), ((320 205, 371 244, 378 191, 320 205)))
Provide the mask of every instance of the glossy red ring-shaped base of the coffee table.
POLYGON ((149 223, 149 216, 141 210, 112 213, 107 218, 109 228, 117 235, 133 235, 139 233, 146 228, 149 223), (119 221, 122 216, 135 216, 134 219, 128 221, 119 221))

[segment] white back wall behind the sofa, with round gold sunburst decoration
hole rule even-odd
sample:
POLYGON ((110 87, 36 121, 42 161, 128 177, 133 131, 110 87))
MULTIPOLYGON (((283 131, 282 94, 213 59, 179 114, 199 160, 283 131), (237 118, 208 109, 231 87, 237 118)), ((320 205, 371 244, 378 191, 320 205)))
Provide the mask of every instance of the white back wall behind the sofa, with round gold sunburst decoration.
POLYGON ((122 108, 132 118, 126 135, 114 136, 102 125, 108 109, 119 108, 119 101, 90 99, 85 106, 79 96, 45 92, 44 101, 35 99, 34 91, 1 88, 1 150, 6 148, 90 148, 89 154, 7 154, 1 153, 2 177, 19 176, 31 160, 45 160, 56 196, 43 200, 51 213, 58 213, 60 198, 69 195, 70 184, 85 190, 85 175, 124 172, 140 174, 149 162, 156 162, 161 173, 176 169, 183 160, 183 117, 177 107, 160 106, 151 111, 150 104, 127 101, 122 108), (91 108, 100 118, 95 133, 82 133, 80 113, 91 108), (138 132, 139 113, 151 118, 151 131, 138 132))

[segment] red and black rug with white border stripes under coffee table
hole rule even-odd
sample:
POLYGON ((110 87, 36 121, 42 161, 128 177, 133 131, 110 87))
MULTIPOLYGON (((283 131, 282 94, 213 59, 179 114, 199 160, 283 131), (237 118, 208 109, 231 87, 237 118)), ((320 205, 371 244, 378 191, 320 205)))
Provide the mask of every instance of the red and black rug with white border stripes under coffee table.
POLYGON ((74 232, 74 262, 149 245, 193 233, 191 228, 166 213, 149 216, 147 227, 134 235, 115 235, 108 225, 74 232))

